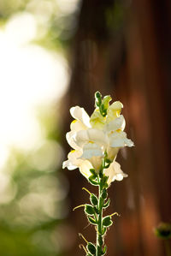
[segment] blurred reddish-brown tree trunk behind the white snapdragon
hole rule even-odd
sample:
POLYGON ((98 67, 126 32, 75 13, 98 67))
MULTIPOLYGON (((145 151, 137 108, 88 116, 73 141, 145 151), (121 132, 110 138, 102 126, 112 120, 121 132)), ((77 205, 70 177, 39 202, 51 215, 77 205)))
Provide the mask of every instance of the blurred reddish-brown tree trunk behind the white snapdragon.
MULTIPOLYGON (((164 255, 153 228, 171 216, 170 17, 167 0, 84 0, 80 9, 68 108, 78 104, 91 114, 97 90, 120 99, 128 137, 135 142, 117 158, 128 178, 109 188, 110 211, 121 213, 106 237, 109 256, 164 255)), ((90 184, 78 171, 68 172, 68 179, 71 206, 88 201, 81 188, 91 190, 90 184)), ((80 211, 72 213, 71 222, 76 232, 95 241, 80 211)), ((70 255, 83 255, 79 243, 70 255)))

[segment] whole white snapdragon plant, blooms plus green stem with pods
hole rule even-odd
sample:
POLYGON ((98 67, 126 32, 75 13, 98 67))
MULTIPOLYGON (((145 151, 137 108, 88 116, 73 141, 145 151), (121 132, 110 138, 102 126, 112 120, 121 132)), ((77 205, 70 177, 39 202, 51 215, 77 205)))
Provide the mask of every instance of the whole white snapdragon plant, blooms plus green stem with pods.
POLYGON ((112 217, 119 215, 117 212, 103 217, 103 210, 109 207, 107 189, 111 182, 121 181, 127 174, 121 170, 121 165, 115 161, 117 153, 124 146, 133 146, 133 141, 127 139, 124 132, 126 126, 125 118, 121 115, 123 105, 120 101, 111 101, 110 96, 102 98, 100 92, 95 94, 96 109, 91 116, 80 106, 70 109, 74 121, 71 122, 71 130, 66 134, 72 151, 68 153, 68 160, 62 164, 63 168, 74 170, 79 168, 80 173, 98 187, 98 197, 86 188, 90 194, 90 204, 79 205, 74 208, 85 207, 85 215, 89 223, 95 225, 97 233, 96 244, 87 241, 84 248, 86 256, 103 256, 107 252, 104 245, 104 236, 112 217))

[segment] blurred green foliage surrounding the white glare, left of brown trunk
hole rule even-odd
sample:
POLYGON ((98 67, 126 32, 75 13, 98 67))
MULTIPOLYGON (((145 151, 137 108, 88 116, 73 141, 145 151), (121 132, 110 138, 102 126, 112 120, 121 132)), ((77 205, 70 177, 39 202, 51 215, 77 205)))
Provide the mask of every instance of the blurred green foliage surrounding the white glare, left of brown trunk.
MULTIPOLYGON (((72 4, 56 0, 1 0, 0 27, 14 15, 31 14, 38 27, 32 43, 60 51, 66 57, 78 9, 77 1, 72 4)), ((71 246, 65 223, 68 182, 60 172, 63 151, 56 114, 59 109, 60 104, 39 107, 42 143, 30 151, 11 148, 9 160, 1 170, 0 255, 60 256, 71 246)))

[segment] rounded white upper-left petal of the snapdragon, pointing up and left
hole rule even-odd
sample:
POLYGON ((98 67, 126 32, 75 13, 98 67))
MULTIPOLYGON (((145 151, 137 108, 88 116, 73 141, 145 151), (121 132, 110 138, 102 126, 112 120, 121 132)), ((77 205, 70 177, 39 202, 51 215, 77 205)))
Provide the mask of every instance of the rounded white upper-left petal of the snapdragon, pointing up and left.
POLYGON ((87 128, 90 128, 90 116, 88 116, 83 108, 80 108, 80 106, 72 107, 70 113, 74 119, 84 123, 87 128))

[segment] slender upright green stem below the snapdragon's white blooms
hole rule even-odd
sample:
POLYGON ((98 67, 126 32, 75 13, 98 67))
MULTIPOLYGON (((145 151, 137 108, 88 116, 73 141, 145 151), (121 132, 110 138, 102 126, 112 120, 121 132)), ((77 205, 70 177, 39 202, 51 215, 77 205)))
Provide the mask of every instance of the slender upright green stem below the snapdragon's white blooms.
POLYGON ((97 218, 97 255, 102 255, 103 250, 103 235, 102 235, 102 219, 103 219, 103 198, 102 198, 102 191, 103 191, 103 177, 100 178, 98 176, 98 218, 97 218))

